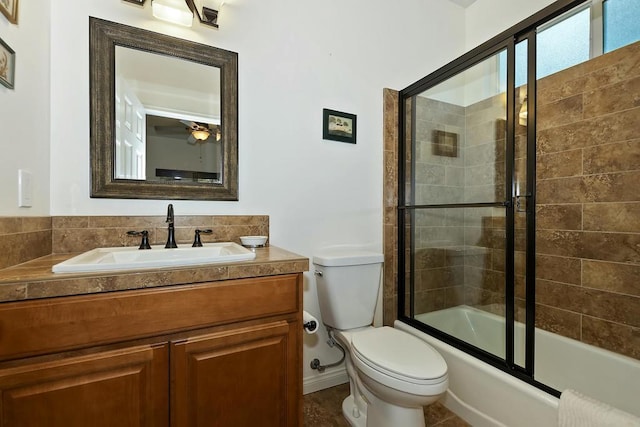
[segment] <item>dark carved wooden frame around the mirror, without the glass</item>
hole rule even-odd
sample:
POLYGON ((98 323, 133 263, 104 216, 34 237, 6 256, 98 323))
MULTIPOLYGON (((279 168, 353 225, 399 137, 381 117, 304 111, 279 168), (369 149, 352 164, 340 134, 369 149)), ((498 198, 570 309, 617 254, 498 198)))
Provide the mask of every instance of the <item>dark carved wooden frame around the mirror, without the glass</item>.
POLYGON ((237 53, 90 17, 89 64, 91 197, 238 200, 237 53), (220 69, 222 184, 114 178, 116 46, 169 55, 220 69))

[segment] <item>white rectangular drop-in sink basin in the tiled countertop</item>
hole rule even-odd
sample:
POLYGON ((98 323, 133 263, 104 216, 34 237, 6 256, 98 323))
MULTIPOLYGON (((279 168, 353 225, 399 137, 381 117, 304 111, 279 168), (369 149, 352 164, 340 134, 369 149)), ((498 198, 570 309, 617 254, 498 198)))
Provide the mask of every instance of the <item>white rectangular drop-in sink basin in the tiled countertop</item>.
POLYGON ((249 261, 256 254, 237 243, 205 243, 202 247, 162 245, 140 250, 138 247, 97 248, 54 265, 54 273, 131 270, 202 265, 219 262, 249 261))

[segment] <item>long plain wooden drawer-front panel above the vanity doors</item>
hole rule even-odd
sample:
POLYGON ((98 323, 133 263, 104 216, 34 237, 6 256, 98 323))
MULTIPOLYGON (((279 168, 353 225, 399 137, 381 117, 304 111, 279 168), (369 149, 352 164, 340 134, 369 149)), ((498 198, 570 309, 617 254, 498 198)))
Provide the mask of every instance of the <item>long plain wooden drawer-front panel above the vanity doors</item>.
POLYGON ((0 360, 296 313, 302 274, 0 304, 0 360))

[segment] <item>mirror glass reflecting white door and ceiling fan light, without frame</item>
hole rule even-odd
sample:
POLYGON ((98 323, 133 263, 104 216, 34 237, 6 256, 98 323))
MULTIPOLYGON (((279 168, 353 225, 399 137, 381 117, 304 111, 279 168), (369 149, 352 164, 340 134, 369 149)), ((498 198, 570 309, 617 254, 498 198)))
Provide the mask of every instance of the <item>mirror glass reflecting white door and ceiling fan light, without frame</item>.
POLYGON ((115 178, 221 183, 220 70, 115 49, 115 178))

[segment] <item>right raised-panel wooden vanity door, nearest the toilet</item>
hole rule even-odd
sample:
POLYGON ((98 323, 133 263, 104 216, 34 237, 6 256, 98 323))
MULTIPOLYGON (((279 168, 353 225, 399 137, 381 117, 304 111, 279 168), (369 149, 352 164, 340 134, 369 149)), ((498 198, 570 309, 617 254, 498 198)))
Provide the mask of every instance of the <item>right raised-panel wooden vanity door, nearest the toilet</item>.
POLYGON ((279 321, 172 343, 172 426, 297 426, 294 326, 279 321))

